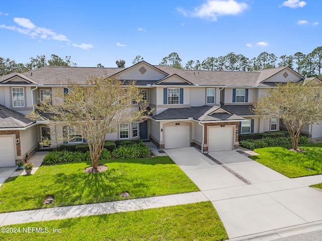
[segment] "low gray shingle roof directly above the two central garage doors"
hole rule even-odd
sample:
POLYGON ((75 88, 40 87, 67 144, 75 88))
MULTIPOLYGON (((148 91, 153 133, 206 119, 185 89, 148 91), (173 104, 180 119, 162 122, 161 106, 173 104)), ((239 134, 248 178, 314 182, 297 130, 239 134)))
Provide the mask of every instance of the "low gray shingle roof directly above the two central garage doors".
POLYGON ((162 113, 152 117, 155 120, 177 120, 193 118, 199 121, 224 121, 224 120, 244 120, 243 117, 228 114, 228 113, 214 113, 219 107, 200 106, 189 108, 169 108, 162 113))

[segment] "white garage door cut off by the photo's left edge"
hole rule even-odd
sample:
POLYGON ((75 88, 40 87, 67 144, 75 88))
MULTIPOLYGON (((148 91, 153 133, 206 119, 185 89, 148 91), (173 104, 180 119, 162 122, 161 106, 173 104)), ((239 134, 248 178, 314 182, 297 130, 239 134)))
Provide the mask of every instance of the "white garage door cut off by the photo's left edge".
POLYGON ((0 167, 16 166, 14 137, 0 137, 0 167))

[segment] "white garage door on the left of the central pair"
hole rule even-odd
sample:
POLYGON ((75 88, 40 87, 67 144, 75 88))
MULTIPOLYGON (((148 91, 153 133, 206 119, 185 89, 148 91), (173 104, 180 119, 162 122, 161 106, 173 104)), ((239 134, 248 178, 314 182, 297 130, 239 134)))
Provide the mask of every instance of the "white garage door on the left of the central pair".
POLYGON ((165 128, 165 148, 182 148, 190 146, 190 126, 175 125, 165 128))

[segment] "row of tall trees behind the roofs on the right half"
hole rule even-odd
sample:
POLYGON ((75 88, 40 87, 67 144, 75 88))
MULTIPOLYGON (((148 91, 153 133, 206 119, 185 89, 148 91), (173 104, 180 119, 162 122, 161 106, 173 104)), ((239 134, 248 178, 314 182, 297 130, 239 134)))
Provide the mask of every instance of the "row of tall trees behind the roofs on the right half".
POLYGON ((321 75, 322 47, 315 48, 309 54, 296 52, 294 55, 281 55, 262 52, 257 57, 248 58, 243 54, 230 52, 225 56, 207 57, 203 61, 189 60, 185 66, 178 53, 164 57, 160 65, 169 65, 179 69, 219 70, 219 71, 256 71, 261 69, 289 66, 303 76, 321 75))

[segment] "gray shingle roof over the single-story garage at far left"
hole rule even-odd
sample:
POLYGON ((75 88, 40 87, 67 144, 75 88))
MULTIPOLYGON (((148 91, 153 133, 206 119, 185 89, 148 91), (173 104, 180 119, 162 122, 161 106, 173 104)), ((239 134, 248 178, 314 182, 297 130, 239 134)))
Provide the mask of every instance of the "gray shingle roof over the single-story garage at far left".
POLYGON ((36 121, 32 121, 26 118, 25 115, 0 105, 0 130, 1 128, 23 128, 33 123, 36 123, 36 121))

